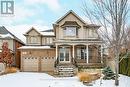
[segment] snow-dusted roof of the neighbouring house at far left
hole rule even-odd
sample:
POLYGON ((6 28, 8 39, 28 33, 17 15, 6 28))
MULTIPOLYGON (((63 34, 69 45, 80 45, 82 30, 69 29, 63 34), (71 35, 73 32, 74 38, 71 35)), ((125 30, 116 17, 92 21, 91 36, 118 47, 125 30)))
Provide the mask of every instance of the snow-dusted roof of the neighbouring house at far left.
POLYGON ((10 37, 12 39, 17 40, 21 44, 24 44, 24 42, 22 40, 20 40, 19 38, 17 38, 14 34, 12 34, 10 31, 8 31, 4 26, 0 26, 0 34, 1 34, 1 36, 10 37))

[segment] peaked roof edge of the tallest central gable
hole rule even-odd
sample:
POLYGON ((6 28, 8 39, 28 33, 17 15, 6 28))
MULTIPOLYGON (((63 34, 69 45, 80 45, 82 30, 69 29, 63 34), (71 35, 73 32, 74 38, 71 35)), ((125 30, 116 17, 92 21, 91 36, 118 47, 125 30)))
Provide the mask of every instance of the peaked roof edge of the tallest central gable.
POLYGON ((62 16, 59 20, 56 21, 56 24, 62 21, 65 17, 67 17, 69 14, 73 14, 76 18, 78 18, 82 23, 86 24, 86 22, 80 18, 73 10, 68 11, 64 16, 62 16))

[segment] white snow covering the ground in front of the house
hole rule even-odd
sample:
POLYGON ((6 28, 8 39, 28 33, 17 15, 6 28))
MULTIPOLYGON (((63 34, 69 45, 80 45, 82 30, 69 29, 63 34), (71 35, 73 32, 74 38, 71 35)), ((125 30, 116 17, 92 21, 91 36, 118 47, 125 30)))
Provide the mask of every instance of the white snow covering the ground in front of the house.
MULTIPOLYGON (((120 75, 119 87, 130 87, 130 77, 120 75)), ((115 87, 114 80, 97 80, 88 87, 115 87)), ((18 72, 0 76, 0 87, 87 87, 77 77, 55 78, 45 73, 18 72)))

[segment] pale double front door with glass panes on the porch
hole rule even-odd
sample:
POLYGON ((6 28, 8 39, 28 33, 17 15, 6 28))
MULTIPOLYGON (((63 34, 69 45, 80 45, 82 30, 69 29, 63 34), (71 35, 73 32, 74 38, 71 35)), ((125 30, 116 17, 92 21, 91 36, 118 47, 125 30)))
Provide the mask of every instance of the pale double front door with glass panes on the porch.
POLYGON ((61 47, 59 49, 59 61, 68 63, 70 62, 70 48, 69 47, 61 47))

